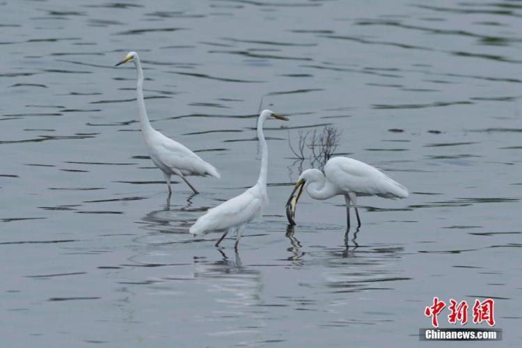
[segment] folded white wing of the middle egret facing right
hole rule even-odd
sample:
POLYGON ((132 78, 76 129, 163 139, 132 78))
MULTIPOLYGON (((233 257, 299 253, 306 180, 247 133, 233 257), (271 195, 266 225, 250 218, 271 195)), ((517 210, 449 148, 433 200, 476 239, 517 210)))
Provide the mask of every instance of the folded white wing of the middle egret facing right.
POLYGON ((209 209, 200 216, 190 228, 190 232, 198 235, 212 230, 225 230, 249 223, 262 213, 262 197, 257 187, 244 191, 217 207, 209 209))

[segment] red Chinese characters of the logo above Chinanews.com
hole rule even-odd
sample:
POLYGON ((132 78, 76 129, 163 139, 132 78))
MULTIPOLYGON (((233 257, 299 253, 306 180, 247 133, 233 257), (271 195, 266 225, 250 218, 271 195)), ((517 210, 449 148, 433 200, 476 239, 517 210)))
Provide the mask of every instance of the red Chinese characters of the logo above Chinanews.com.
MULTIPOLYGON (((495 319, 493 316, 493 306, 495 302, 492 299, 485 299, 480 301, 475 299, 473 305, 473 323, 480 324, 487 322, 489 326, 495 326, 495 319)), ((432 318, 432 326, 438 327, 438 315, 445 308, 446 303, 438 299, 433 298, 432 306, 428 306, 424 310, 424 315, 432 318)), ((448 315, 448 322, 450 324, 457 324, 460 322, 464 325, 468 322, 468 303, 466 301, 457 302, 454 299, 450 299, 450 306, 448 306, 450 314, 448 315)))

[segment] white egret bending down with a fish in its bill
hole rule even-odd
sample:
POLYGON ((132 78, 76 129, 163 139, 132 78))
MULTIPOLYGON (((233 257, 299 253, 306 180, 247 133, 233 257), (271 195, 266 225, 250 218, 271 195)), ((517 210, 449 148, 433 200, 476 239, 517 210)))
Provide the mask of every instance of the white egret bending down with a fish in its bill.
POLYGON ((333 157, 326 162, 324 174, 318 169, 307 169, 299 175, 294 191, 286 205, 288 222, 295 225, 297 201, 303 189, 310 197, 325 200, 333 196, 345 196, 347 225, 350 226, 350 203, 354 205, 358 228, 361 219, 357 211, 357 196, 379 196, 383 198, 406 198, 408 190, 379 169, 348 157, 333 157), (297 189, 299 193, 295 195, 297 189))

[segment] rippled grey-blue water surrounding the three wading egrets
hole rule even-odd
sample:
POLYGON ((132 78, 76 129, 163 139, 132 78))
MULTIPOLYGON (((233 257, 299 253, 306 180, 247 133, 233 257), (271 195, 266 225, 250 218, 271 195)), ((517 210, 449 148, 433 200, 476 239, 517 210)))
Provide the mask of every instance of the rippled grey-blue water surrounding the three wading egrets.
MULTIPOLYGON (((3 347, 417 347, 433 296, 496 301, 522 334, 520 1, 6 1, 1 13, 3 347), (147 157, 152 125, 214 164, 194 196, 147 157), (188 228, 255 183, 269 200, 214 248, 188 228), (299 130, 411 191, 285 202, 299 130)), ((472 305, 473 306, 473 305, 472 305)), ((444 310, 441 326, 449 326, 444 310)), ((484 328, 468 323, 465 327, 484 328)), ((422 345, 430 345, 422 342, 422 345)), ((433 345, 445 345, 435 343, 433 345)))

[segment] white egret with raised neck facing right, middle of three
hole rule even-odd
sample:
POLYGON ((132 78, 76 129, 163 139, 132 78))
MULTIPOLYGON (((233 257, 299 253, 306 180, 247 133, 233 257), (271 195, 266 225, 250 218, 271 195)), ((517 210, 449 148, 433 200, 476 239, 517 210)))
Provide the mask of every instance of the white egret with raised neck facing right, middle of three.
POLYGON ((191 234, 200 235, 201 233, 213 230, 225 230, 215 244, 219 246, 219 243, 221 243, 228 232, 236 231, 237 237, 234 248, 237 250, 237 243, 239 243, 239 238, 241 238, 246 224, 261 216, 263 207, 268 203, 268 146, 267 141, 264 140, 263 123, 269 118, 288 120, 288 118, 273 113, 270 110, 263 110, 260 113, 258 118, 258 140, 261 145, 261 170, 258 182, 239 196, 209 209, 205 215, 200 216, 198 221, 191 226, 189 230, 191 234))

